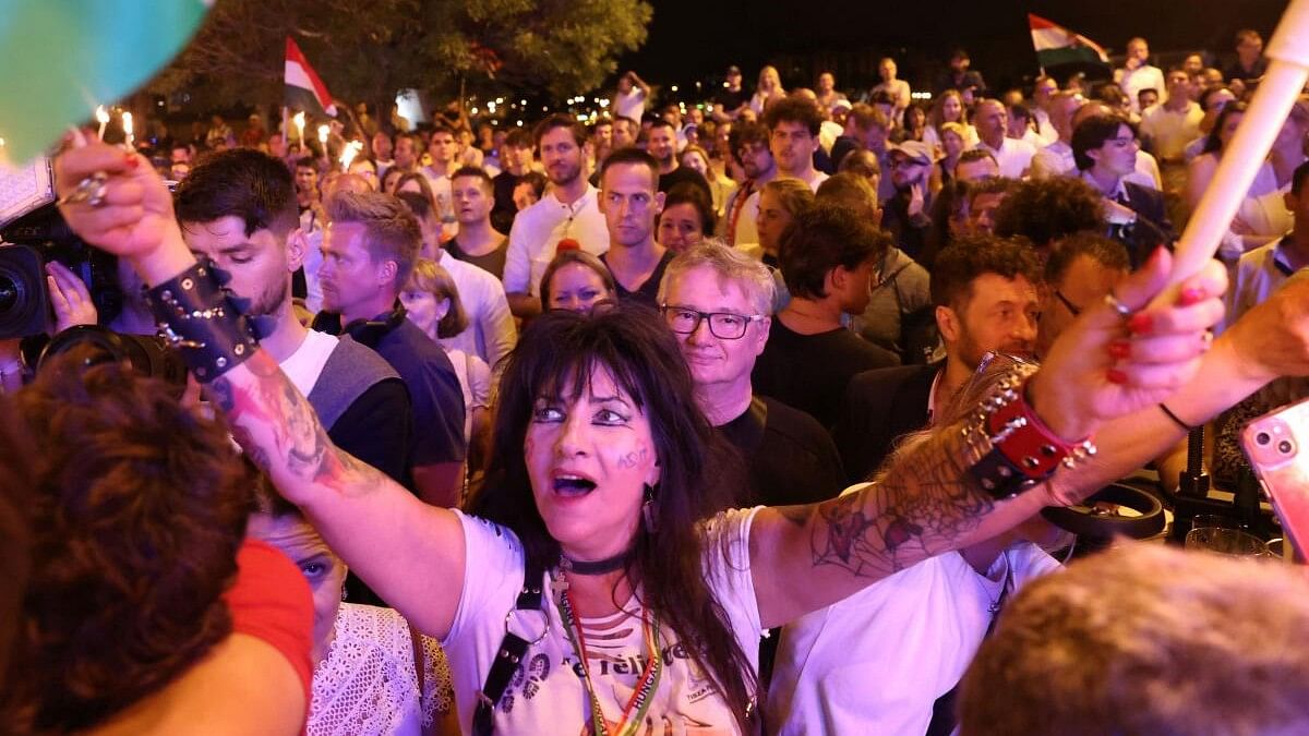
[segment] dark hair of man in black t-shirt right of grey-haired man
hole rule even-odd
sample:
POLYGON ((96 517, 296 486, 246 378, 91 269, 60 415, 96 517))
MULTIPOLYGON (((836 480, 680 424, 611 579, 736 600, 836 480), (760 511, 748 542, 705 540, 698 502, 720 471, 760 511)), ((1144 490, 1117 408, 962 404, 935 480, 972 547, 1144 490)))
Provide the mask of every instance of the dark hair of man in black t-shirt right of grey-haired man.
POLYGON ((817 300, 827 296, 825 282, 833 268, 853 271, 881 259, 890 246, 890 236, 874 228, 861 212, 818 202, 787 227, 778 259, 791 295, 817 300))

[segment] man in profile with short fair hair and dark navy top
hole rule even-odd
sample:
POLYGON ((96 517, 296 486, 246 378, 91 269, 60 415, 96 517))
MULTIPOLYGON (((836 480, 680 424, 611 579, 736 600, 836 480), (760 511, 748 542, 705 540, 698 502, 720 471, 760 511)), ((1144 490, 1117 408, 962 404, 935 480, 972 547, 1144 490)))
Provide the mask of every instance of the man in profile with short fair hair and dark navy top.
POLYGON ((344 331, 373 347, 399 373, 414 402, 408 458, 419 498, 453 507, 463 486, 463 392, 441 346, 404 317, 398 297, 421 248, 414 215, 386 194, 340 193, 327 203, 323 313, 314 329, 344 331))

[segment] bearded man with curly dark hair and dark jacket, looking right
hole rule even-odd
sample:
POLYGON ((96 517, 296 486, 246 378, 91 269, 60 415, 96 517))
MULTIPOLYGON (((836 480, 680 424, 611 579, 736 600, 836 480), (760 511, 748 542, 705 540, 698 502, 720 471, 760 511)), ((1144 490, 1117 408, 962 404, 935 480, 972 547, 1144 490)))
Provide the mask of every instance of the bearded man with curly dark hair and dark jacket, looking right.
POLYGON ((1031 355, 1039 284, 1035 251, 1020 240, 963 238, 937 255, 931 288, 945 360, 850 380, 833 430, 847 481, 865 479, 901 436, 931 424, 987 352, 1031 355))

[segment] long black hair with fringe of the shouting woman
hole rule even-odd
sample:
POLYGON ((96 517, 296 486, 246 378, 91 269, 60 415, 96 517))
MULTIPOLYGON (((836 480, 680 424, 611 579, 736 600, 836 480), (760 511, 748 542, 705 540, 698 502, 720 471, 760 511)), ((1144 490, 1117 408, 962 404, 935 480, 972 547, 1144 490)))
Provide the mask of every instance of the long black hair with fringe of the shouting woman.
POLYGON ((558 563, 559 542, 533 499, 522 443, 542 396, 571 393, 576 399, 597 371, 611 375, 649 419, 660 462, 652 504, 654 530, 636 525, 624 574, 640 591, 641 604, 673 630, 674 640, 694 642, 686 647, 687 655, 709 674, 736 714, 738 728, 749 731, 747 705, 759 693, 759 684, 706 583, 706 554, 724 554, 724 549, 706 549, 700 524, 728 508, 732 488, 742 479, 741 464, 696 406, 691 375, 673 333, 640 306, 623 305, 593 316, 554 310, 531 321, 507 360, 490 468, 470 512, 513 530, 528 568, 558 563))

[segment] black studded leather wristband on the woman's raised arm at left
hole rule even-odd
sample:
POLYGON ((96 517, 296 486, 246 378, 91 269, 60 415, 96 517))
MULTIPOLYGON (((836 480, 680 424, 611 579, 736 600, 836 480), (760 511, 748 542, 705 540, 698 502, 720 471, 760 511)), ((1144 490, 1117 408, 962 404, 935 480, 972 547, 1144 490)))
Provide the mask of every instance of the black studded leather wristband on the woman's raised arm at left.
POLYGON ((203 261, 147 292, 160 335, 202 384, 236 368, 259 346, 220 275, 203 261))

